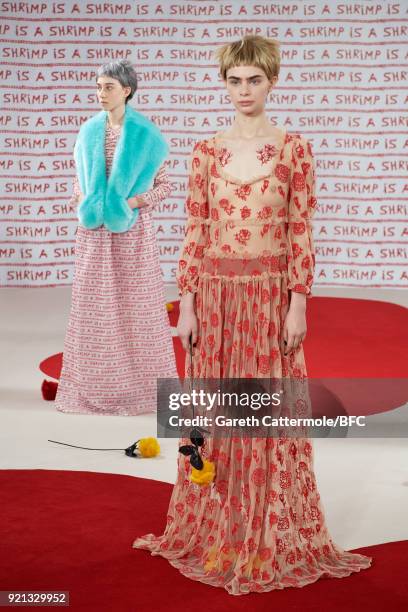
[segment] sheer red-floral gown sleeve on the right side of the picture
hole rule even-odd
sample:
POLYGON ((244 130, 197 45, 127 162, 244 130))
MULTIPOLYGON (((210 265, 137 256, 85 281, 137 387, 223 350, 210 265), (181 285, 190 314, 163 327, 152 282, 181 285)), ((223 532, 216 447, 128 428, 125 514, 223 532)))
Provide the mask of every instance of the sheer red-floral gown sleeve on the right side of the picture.
POLYGON ((315 197, 315 165, 309 141, 294 139, 288 218, 288 289, 311 294, 315 267, 312 223, 315 197))

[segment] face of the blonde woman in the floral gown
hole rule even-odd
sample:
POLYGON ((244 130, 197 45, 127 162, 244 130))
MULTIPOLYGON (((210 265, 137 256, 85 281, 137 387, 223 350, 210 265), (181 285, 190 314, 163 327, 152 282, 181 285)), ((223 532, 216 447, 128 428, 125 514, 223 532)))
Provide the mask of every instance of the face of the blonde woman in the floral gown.
POLYGON ((255 116, 265 108, 269 92, 278 77, 268 80, 265 72, 256 66, 236 66, 227 70, 226 86, 238 112, 255 116))

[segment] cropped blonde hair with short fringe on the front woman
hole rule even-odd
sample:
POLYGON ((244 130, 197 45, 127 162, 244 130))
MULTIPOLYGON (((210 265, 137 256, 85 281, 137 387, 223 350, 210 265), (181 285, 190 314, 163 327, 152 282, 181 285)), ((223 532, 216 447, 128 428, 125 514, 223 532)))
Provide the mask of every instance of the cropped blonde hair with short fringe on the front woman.
POLYGON ((227 78, 227 71, 236 66, 261 68, 269 81, 279 75, 279 43, 272 38, 249 34, 242 40, 227 43, 217 49, 215 57, 219 62, 220 74, 224 81, 227 78))

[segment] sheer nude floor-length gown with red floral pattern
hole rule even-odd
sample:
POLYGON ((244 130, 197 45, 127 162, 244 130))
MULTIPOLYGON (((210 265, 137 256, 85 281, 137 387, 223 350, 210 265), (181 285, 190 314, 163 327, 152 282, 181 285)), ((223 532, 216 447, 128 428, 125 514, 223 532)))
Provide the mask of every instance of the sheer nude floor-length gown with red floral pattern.
MULTIPOLYGON (((304 378, 303 347, 285 356, 281 330, 290 292, 310 295, 313 282, 310 143, 282 132, 245 145, 216 136, 196 144, 190 167, 178 283, 180 294, 196 292, 194 375, 304 378)), ((209 438, 203 456, 215 462, 214 482, 193 484, 179 454, 165 532, 134 548, 232 595, 370 566, 330 538, 310 439, 209 438)))

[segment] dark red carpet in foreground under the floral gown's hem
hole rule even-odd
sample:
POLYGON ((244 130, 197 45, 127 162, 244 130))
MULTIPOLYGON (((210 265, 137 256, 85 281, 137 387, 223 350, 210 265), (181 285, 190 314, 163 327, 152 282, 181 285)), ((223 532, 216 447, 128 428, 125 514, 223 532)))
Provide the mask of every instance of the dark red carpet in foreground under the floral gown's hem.
POLYGON ((131 548, 136 536, 163 532, 170 484, 92 472, 3 470, 0 487, 2 590, 70 591, 70 609, 87 612, 407 609, 407 542, 358 549, 373 557, 373 566, 347 578, 233 597, 131 548))

